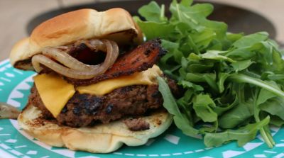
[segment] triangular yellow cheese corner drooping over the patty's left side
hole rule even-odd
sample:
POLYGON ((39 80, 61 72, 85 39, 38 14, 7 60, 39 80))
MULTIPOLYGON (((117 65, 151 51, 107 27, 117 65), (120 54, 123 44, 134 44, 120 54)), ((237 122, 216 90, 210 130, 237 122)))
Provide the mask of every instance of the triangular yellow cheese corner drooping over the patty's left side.
POLYGON ((75 94, 74 86, 55 74, 40 74, 33 80, 45 107, 56 118, 67 101, 75 94))

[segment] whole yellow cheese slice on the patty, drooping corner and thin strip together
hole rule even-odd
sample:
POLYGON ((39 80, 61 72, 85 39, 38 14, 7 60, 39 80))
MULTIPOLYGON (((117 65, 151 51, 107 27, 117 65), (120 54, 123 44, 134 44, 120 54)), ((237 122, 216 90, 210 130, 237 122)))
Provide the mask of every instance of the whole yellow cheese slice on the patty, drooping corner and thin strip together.
POLYGON ((79 91, 80 94, 103 96, 124 86, 156 84, 156 77, 161 74, 163 72, 160 68, 154 65, 143 72, 107 79, 88 86, 78 86, 76 89, 74 85, 67 83, 67 81, 55 74, 39 74, 33 79, 45 107, 56 118, 67 101, 75 94, 75 91, 79 91))

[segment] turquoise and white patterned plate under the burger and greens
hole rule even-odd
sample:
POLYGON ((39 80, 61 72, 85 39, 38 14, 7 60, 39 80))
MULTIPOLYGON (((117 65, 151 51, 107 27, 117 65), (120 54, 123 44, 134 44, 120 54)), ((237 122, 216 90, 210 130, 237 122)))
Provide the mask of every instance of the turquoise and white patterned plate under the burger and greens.
MULTIPOLYGON (((0 101, 22 109, 33 85, 34 72, 14 69, 9 60, 0 62, 0 101)), ((126 147, 110 154, 75 152, 60 147, 50 147, 29 136, 18 127, 16 120, 0 120, 0 157, 283 157, 284 128, 271 127, 275 147, 270 149, 258 135, 255 140, 238 147, 230 142, 221 147, 205 147, 202 136, 187 137, 175 125, 163 135, 149 140, 146 145, 126 147)))

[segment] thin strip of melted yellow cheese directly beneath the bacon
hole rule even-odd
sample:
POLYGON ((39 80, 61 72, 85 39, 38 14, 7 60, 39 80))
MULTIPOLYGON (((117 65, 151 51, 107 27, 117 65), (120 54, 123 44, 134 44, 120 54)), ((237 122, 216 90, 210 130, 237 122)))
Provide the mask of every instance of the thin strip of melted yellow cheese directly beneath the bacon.
POLYGON ((152 68, 147 69, 143 72, 137 72, 130 76, 126 77, 117 77, 115 79, 107 79, 104 81, 100 81, 97 84, 92 84, 88 86, 78 86, 77 91, 80 94, 92 94, 96 96, 103 96, 104 94, 108 94, 109 92, 113 91, 114 89, 118 89, 124 86, 131 86, 131 85, 151 85, 155 84, 156 77, 160 76, 162 72, 160 71, 159 67, 154 65, 152 68))

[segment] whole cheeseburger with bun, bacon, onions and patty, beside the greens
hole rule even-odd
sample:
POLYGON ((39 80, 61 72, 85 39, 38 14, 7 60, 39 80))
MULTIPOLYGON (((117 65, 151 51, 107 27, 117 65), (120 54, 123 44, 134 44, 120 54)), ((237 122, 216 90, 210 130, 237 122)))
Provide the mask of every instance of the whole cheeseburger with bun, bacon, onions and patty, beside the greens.
POLYGON ((124 9, 51 18, 11 50, 13 67, 38 72, 18 125, 48 145, 72 150, 143 145, 172 123, 156 81, 165 77, 156 65, 164 54, 160 40, 143 43, 124 9))

